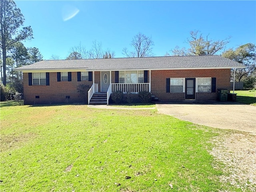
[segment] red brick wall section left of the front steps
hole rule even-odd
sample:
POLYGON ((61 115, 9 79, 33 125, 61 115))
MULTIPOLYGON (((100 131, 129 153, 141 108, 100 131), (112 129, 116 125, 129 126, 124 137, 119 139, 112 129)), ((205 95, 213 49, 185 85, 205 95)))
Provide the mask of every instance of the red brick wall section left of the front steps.
MULTIPOLYGON (((72 72, 72 81, 57 82, 57 73, 50 72, 50 86, 28 85, 28 73, 23 73, 24 104, 54 104, 82 102, 83 98, 77 92, 77 86, 85 84, 92 86, 92 81, 77 81, 77 72, 72 72), (35 98, 39 96, 39 98, 35 98), (66 99, 66 96, 70 96, 66 99)), ((98 72, 95 72, 95 82, 98 81, 98 72)))

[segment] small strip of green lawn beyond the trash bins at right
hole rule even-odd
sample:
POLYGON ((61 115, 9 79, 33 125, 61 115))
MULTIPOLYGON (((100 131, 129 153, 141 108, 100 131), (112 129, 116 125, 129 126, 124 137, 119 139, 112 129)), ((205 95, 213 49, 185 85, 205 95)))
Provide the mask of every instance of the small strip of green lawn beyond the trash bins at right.
MULTIPOLYGON (((231 90, 230 93, 233 93, 231 90)), ((236 101, 256 106, 256 90, 235 90, 236 101)))

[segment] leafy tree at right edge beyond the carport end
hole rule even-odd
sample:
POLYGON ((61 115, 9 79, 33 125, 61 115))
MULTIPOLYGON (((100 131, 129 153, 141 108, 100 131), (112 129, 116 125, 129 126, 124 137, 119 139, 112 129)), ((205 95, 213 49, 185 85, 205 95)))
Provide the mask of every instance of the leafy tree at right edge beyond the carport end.
POLYGON ((229 49, 222 53, 222 56, 238 63, 244 64, 246 68, 236 70, 236 80, 241 81, 243 77, 256 72, 256 46, 247 43, 235 50, 229 49))

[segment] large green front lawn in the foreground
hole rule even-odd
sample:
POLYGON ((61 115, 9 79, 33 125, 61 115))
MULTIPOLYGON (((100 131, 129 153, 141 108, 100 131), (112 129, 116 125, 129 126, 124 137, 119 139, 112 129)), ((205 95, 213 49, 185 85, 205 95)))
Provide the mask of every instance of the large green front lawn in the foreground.
POLYGON ((212 138, 224 130, 157 110, 0 110, 0 191, 241 191, 219 181, 223 173, 209 154, 212 138))

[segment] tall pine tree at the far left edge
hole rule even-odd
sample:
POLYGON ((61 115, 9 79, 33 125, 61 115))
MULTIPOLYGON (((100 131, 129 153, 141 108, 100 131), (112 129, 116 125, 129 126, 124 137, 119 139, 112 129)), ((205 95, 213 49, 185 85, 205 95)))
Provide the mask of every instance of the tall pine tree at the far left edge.
POLYGON ((0 47, 3 56, 4 85, 6 85, 6 50, 15 42, 33 38, 30 26, 20 29, 23 22, 24 16, 13 0, 0 1, 0 47))

